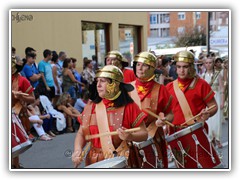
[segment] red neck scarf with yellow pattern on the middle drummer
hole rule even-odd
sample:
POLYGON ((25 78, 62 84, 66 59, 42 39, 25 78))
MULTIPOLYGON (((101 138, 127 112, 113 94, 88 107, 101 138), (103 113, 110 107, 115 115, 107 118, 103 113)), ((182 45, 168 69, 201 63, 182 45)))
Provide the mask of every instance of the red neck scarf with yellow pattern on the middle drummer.
POLYGON ((153 85, 154 80, 142 82, 139 79, 136 79, 136 89, 141 101, 151 92, 153 85))

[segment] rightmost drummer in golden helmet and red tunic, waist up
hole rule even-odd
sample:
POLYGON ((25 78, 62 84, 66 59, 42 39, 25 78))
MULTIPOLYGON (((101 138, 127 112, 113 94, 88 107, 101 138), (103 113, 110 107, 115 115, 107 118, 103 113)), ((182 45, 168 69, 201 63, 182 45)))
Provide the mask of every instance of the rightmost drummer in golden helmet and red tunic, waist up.
MULTIPOLYGON (((194 68, 194 55, 188 51, 181 51, 175 56, 178 78, 175 80, 184 93, 186 100, 195 116, 201 113, 201 120, 206 121, 217 112, 217 104, 214 92, 206 81, 196 76, 194 68), (185 54, 184 54, 185 53, 185 54), (182 57, 183 56, 183 57, 182 57), (184 57, 185 56, 185 57, 184 57), (213 109, 206 111, 206 107, 216 105, 213 109)), ((173 124, 180 125, 185 122, 185 117, 180 106, 180 99, 174 91, 174 82, 167 84, 167 90, 174 97, 173 100, 173 124)))

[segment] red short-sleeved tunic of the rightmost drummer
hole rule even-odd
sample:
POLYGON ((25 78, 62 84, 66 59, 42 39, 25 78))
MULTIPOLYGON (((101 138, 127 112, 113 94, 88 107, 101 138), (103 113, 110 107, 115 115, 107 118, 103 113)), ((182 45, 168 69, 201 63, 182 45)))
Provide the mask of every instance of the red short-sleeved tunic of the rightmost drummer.
MULTIPOLYGON (((192 79, 189 80, 181 80, 178 78, 179 87, 182 89, 187 102, 190 106, 190 109, 192 111, 193 116, 197 115, 201 112, 202 109, 206 108, 207 103, 214 98, 214 92, 212 91, 209 84, 201 79, 197 78, 193 86, 189 87, 190 83, 192 82, 192 79)), ((185 118, 183 115, 183 112, 181 110, 181 107, 179 105, 179 102, 177 100, 176 94, 174 92, 173 88, 173 82, 168 83, 166 85, 167 90, 170 92, 171 95, 173 95, 173 124, 180 125, 185 122, 185 118)))

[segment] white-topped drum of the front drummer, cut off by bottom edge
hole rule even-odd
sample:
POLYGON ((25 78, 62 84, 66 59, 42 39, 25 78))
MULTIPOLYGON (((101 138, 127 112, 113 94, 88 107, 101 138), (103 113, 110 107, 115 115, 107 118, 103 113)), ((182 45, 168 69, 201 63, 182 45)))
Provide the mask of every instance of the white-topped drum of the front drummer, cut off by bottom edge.
POLYGON ((127 168, 127 159, 123 156, 105 159, 85 168, 127 168))

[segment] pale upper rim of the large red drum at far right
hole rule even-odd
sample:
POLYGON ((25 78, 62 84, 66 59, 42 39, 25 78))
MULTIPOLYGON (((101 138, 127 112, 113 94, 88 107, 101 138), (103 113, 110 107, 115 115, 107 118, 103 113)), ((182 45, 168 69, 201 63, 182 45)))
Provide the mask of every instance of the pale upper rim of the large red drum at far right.
POLYGON ((189 134, 189 133, 191 133, 191 132, 193 132, 193 131, 201 128, 201 127, 203 127, 203 123, 196 123, 194 125, 188 126, 184 129, 166 137, 165 139, 166 139, 167 142, 171 142, 171 141, 173 141, 175 139, 178 139, 182 136, 185 136, 185 135, 187 135, 187 134, 189 134))

